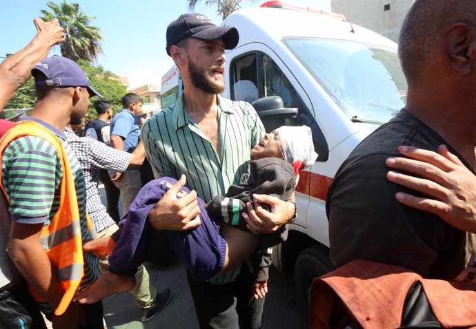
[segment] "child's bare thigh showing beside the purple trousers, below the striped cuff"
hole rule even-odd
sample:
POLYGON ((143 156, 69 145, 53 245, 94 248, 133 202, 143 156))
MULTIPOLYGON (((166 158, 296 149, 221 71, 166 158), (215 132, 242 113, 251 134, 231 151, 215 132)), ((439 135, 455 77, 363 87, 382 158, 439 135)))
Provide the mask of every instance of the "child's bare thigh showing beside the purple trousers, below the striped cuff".
POLYGON ((221 224, 220 231, 226 240, 226 257, 225 264, 218 275, 225 273, 228 268, 243 262, 251 255, 257 248, 259 239, 259 236, 254 233, 241 231, 228 224, 221 224))

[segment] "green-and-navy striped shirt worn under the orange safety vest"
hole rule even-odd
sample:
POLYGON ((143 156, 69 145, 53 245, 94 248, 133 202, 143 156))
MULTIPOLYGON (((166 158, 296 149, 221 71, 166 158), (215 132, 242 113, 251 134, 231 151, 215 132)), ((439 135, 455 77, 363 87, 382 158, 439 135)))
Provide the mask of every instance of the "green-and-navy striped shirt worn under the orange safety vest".
MULTIPOLYGON (((86 187, 83 171, 69 147, 63 132, 37 118, 32 120, 48 128, 60 138, 70 160, 75 180, 76 194, 83 241, 91 240, 86 222, 86 187)), ((2 180, 10 198, 10 217, 21 224, 50 224, 59 209, 61 178, 63 168, 61 158, 53 145, 36 136, 23 136, 10 142, 2 156, 2 180)), ((101 274, 95 253, 85 253, 84 277, 81 288, 89 286, 101 274)), ((81 288, 79 290, 81 290, 81 288)), ((52 312, 46 305, 40 305, 45 312, 52 312)))

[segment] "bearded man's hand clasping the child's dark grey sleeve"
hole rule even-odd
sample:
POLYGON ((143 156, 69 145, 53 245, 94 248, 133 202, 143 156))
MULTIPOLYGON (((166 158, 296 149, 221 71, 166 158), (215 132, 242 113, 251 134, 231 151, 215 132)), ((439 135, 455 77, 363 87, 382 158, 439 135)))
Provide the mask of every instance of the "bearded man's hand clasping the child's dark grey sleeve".
POLYGON ((295 212, 294 204, 282 201, 274 196, 253 194, 253 200, 255 202, 255 209, 248 202, 246 207, 248 208, 249 216, 243 213, 243 217, 246 220, 246 227, 255 234, 274 233, 289 222, 295 212), (269 204, 271 211, 264 209, 261 203, 269 204))

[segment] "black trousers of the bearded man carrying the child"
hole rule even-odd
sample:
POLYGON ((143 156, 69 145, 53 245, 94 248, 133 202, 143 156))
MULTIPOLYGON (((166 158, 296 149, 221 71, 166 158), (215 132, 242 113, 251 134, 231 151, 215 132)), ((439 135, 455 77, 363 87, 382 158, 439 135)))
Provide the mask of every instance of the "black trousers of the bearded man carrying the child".
POLYGON ((253 298, 248 266, 243 264, 237 281, 228 284, 197 282, 188 271, 187 278, 201 329, 261 328, 264 298, 253 298))

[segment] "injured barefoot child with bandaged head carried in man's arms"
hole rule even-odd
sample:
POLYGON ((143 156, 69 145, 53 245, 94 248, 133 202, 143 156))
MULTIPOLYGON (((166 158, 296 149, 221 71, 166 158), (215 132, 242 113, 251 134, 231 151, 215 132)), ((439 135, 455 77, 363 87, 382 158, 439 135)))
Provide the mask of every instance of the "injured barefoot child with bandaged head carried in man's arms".
MULTIPOLYGON (((248 211, 248 202, 253 204, 253 194, 289 200, 299 171, 313 165, 317 153, 309 127, 283 126, 266 134, 251 150, 251 158, 239 184, 230 186, 226 195, 216 195, 208 204, 197 198, 199 226, 188 231, 166 231, 170 246, 197 281, 225 273, 250 255, 250 265, 261 268, 267 279, 271 261, 268 248, 286 240, 287 224, 275 233, 255 235, 246 228, 242 214, 248 211)), ((105 251, 110 256, 108 270, 79 293, 79 303, 92 304, 130 290, 135 285, 137 268, 145 261, 154 262, 153 255, 160 251, 154 248, 155 229, 148 222, 148 213, 176 183, 173 178, 162 177, 146 184, 119 222, 119 231, 84 245, 85 250, 105 251)), ((177 198, 188 193, 190 190, 183 187, 177 198)), ((268 204, 261 206, 266 208, 268 204)))

